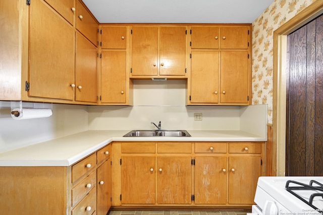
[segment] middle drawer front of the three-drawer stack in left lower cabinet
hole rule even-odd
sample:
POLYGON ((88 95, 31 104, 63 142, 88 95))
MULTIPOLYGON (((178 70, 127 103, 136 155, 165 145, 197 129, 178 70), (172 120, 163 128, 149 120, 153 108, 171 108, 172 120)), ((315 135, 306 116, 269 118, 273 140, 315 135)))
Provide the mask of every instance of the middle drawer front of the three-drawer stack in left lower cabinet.
POLYGON ((96 172, 93 171, 72 189, 72 206, 74 207, 91 189, 96 189, 96 172))

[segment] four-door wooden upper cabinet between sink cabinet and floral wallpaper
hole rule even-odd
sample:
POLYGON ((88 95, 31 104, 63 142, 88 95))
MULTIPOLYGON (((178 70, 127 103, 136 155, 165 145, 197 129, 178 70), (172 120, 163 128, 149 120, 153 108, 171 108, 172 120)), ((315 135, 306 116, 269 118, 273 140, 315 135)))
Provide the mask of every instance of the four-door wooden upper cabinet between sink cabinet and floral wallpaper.
POLYGON ((250 25, 191 26, 188 105, 249 105, 250 25))

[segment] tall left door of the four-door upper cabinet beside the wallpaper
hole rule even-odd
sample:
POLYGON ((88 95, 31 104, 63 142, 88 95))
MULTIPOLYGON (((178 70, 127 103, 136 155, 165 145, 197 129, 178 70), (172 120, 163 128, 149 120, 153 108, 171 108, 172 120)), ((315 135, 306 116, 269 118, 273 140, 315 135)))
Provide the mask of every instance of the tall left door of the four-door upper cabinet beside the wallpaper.
POLYGON ((218 103, 219 52, 192 51, 191 103, 218 103))

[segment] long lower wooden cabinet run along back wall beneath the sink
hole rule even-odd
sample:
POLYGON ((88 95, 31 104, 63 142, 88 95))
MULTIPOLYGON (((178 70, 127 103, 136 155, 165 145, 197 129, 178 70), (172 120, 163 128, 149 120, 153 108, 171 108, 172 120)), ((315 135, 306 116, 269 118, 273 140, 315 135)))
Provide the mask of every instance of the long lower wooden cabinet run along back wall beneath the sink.
POLYGON ((250 207, 264 144, 114 142, 112 206, 250 207))

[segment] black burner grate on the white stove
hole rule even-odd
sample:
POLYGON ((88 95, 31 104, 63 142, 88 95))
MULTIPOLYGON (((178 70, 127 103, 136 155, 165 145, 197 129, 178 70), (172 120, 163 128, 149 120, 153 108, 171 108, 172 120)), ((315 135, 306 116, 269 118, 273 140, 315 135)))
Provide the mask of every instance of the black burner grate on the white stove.
POLYGON ((285 186, 286 190, 288 192, 290 192, 291 194, 293 194, 294 196, 296 196, 298 199, 302 200, 303 202, 305 202, 306 204, 308 204, 309 206, 311 206, 312 208, 314 208, 317 212, 323 214, 323 208, 319 209, 316 206, 313 205, 313 200, 315 197, 321 197, 323 199, 323 193, 313 193, 310 195, 309 200, 305 200, 303 197, 301 197, 300 195, 298 195, 297 193, 295 193, 293 190, 317 190, 317 191, 321 191, 323 192, 323 184, 315 181, 315 180, 311 180, 309 182, 309 184, 304 184, 298 181, 294 181, 294 180, 288 180, 286 182, 286 186, 285 186), (290 184, 297 184, 300 186, 290 186, 290 184), (318 186, 314 186, 314 184, 318 185, 318 186))

